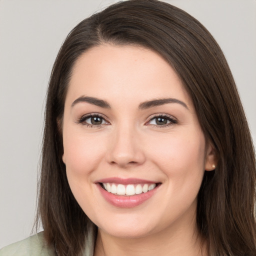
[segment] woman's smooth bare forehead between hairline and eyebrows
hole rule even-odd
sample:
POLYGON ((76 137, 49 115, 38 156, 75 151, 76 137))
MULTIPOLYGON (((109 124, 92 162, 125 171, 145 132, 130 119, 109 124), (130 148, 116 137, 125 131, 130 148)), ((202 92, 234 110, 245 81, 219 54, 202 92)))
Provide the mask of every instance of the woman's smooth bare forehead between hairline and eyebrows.
POLYGON ((173 68, 158 53, 132 45, 103 44, 84 52, 75 62, 67 100, 85 96, 122 101, 190 98, 173 68))

